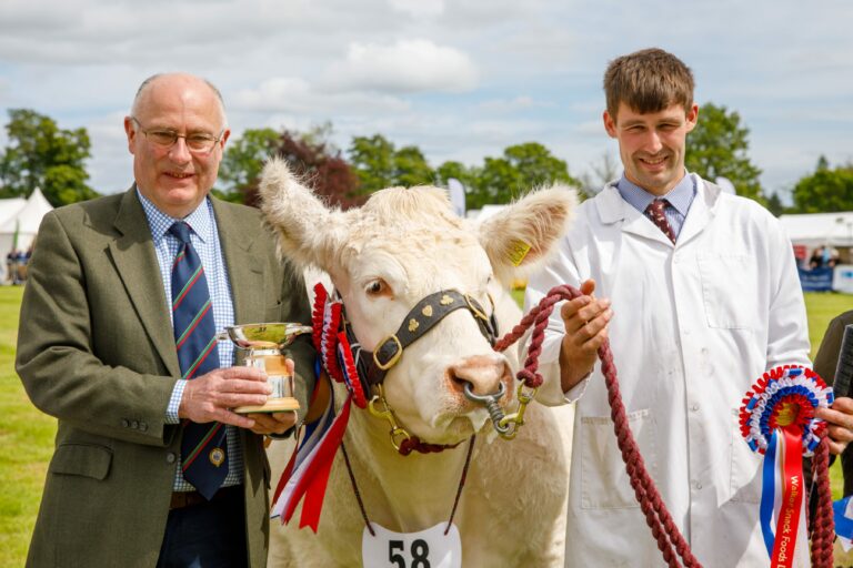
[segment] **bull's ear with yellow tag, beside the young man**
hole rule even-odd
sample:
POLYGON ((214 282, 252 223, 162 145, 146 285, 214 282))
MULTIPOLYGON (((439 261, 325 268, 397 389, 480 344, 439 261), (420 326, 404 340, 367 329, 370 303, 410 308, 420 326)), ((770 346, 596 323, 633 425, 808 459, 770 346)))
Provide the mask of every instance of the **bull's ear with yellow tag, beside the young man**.
POLYGON ((576 205, 574 190, 554 185, 528 193, 483 221, 480 244, 498 278, 510 284, 544 263, 569 229, 576 205))

